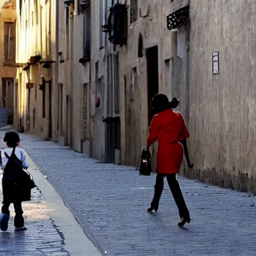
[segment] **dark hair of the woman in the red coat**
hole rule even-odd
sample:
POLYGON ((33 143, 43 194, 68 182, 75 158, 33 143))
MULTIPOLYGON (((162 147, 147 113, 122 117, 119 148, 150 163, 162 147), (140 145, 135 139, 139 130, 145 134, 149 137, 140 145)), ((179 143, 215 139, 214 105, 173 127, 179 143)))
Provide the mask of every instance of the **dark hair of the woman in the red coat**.
POLYGON ((172 98, 171 101, 169 101, 168 97, 165 94, 158 93, 155 94, 151 101, 151 109, 153 112, 162 112, 169 108, 176 108, 178 106, 179 101, 177 98, 172 98))

